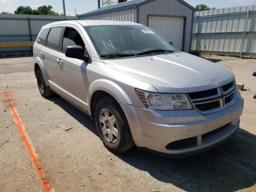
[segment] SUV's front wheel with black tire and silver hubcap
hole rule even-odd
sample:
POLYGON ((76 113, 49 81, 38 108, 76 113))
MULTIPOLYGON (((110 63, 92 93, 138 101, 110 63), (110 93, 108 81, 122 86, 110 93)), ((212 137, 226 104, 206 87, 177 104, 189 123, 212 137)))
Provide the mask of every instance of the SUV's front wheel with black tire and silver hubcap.
POLYGON ((95 121, 100 139, 111 152, 121 153, 134 146, 124 112, 112 97, 106 96, 98 101, 95 121))

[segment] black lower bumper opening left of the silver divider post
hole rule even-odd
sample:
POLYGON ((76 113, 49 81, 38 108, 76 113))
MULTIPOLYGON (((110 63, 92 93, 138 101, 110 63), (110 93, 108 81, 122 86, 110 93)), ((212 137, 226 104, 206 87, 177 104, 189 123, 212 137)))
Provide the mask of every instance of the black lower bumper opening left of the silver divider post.
POLYGON ((181 149, 197 145, 197 137, 191 137, 187 139, 182 139, 174 141, 166 145, 166 149, 181 149))

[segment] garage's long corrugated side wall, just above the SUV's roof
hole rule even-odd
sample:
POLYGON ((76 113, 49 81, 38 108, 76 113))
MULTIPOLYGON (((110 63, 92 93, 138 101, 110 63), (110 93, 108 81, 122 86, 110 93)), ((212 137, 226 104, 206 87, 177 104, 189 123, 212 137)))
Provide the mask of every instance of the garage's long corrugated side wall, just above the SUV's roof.
POLYGON ((116 20, 116 21, 131 21, 136 22, 136 9, 127 9, 94 16, 82 17, 80 20, 116 20))

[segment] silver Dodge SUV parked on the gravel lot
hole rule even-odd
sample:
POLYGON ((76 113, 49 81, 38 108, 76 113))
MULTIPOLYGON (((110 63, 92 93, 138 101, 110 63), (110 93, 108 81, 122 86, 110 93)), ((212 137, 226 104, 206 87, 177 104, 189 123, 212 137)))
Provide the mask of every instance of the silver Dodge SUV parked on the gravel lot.
POLYGON ((231 70, 180 52, 133 22, 42 27, 33 47, 43 97, 53 92, 95 120, 104 146, 169 157, 209 150, 239 128, 244 100, 231 70))

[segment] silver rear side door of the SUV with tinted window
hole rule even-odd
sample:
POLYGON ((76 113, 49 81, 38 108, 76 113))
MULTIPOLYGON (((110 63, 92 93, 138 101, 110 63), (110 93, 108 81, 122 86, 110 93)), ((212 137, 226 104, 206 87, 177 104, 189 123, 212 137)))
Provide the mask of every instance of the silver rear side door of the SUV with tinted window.
POLYGON ((60 85, 57 74, 57 61, 56 56, 58 53, 58 47, 60 43, 60 36, 62 34, 63 26, 54 26, 50 29, 46 40, 46 46, 42 46, 41 55, 44 67, 49 76, 49 83, 52 88, 56 88, 60 85))

